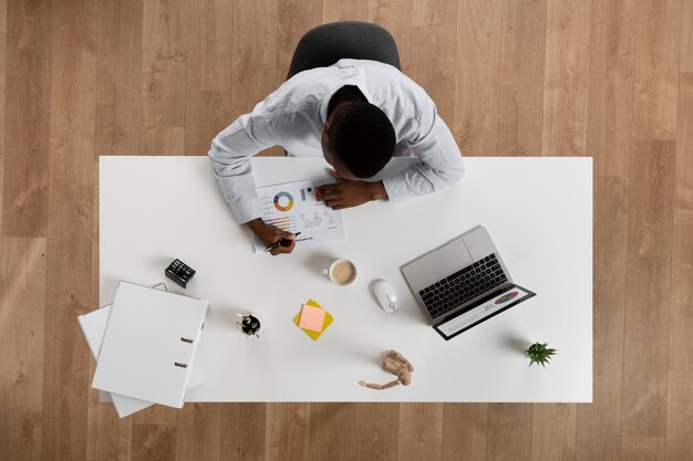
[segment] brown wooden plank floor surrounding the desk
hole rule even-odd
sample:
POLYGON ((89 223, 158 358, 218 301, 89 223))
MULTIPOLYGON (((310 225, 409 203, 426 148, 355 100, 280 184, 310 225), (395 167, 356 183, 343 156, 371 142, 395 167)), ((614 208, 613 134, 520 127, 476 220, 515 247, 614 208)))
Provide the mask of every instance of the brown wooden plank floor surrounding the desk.
POLYGON ((0 202, 2 461, 693 459, 693 0, 0 0, 0 202), (205 155, 335 20, 464 155, 594 158, 593 404, 97 402, 99 156, 205 155))

